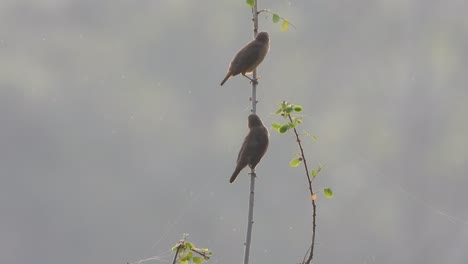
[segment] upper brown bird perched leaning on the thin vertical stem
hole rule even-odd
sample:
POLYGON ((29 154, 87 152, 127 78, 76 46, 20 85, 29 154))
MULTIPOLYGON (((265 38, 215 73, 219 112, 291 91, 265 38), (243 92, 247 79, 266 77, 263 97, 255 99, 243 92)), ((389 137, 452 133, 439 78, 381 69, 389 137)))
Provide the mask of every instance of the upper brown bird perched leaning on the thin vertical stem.
POLYGON ((223 85, 231 76, 236 76, 241 73, 244 77, 252 82, 252 78, 246 76, 246 73, 253 72, 257 66, 263 61, 270 49, 270 37, 266 32, 260 32, 257 37, 239 50, 229 64, 228 73, 221 82, 223 85))

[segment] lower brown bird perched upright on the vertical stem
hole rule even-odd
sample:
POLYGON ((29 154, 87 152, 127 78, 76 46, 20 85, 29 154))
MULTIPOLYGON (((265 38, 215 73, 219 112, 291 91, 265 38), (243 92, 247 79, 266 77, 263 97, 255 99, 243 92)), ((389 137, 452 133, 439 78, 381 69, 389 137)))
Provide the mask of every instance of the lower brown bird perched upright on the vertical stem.
POLYGON ((249 115, 249 129, 237 156, 237 166, 229 180, 230 183, 234 182, 239 172, 247 165, 255 171, 255 167, 268 149, 268 130, 256 114, 249 115))

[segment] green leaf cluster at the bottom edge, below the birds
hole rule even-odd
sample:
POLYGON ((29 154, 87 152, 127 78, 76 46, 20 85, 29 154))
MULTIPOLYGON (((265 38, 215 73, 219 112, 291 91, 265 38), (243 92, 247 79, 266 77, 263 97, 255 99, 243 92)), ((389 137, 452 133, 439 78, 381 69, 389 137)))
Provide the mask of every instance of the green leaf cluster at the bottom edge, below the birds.
POLYGON ((180 264, 202 264, 203 261, 208 261, 213 255, 207 248, 196 248, 193 243, 185 240, 179 241, 175 246, 172 247, 172 251, 178 250, 178 263, 180 264), (197 253, 194 256, 193 253, 197 253))

